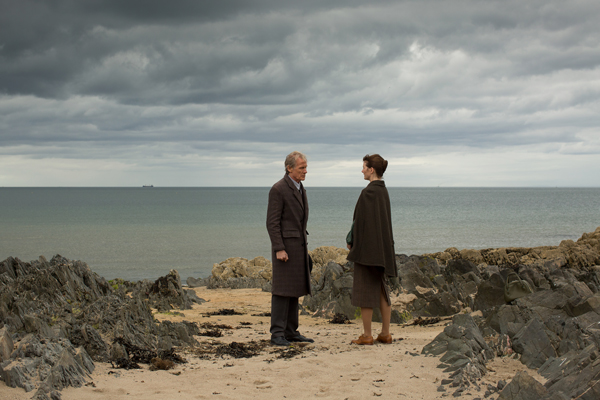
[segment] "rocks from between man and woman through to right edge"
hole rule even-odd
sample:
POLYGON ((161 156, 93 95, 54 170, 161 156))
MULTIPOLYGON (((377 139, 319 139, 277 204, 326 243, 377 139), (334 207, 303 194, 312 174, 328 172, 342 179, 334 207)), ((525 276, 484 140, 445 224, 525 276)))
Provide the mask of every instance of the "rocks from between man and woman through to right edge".
MULTIPOLYGON (((509 356, 548 381, 542 386, 518 375, 505 388, 494 388, 502 389, 501 398, 599 398, 599 243, 600 228, 557 247, 397 255, 399 280, 390 282, 392 319, 454 316, 423 353, 441 357, 440 368, 450 374, 442 386, 454 388, 455 397, 469 387, 481 389, 485 364, 509 356), (506 303, 510 272, 533 293, 506 303)), ((303 306, 315 316, 358 317, 351 305, 352 270, 352 263, 326 264, 303 306)))

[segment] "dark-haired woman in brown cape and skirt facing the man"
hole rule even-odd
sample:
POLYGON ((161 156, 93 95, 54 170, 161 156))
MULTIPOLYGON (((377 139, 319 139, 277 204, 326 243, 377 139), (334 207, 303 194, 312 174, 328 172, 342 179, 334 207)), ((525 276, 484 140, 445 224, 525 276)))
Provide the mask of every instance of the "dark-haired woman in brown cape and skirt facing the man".
POLYGON ((376 341, 392 343, 390 319, 392 305, 385 277, 396 277, 396 255, 390 212, 390 197, 383 182, 388 162, 379 154, 363 158, 362 173, 369 184, 360 194, 354 208, 354 222, 348 243, 348 260, 354 262, 352 305, 360 307, 363 334, 352 341, 358 345, 373 344, 371 319, 373 308, 381 310, 381 333, 376 341))

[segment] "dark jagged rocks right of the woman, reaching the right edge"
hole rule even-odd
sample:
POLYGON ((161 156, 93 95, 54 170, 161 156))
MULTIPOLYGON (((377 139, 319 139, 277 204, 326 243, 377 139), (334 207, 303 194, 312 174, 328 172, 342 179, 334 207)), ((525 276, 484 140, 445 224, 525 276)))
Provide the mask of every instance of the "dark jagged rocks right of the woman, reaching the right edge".
MULTIPOLYGON (((599 261, 598 239, 600 228, 584 234, 577 244, 563 242, 558 247, 494 249, 479 253, 450 249, 435 257, 425 257, 428 262, 436 260, 441 267, 440 276, 432 277, 429 290, 438 294, 447 292, 457 300, 451 300, 448 305, 458 304, 465 311, 480 311, 481 317, 473 319, 477 328, 467 324, 472 335, 484 337, 487 347, 496 356, 517 357, 548 379, 541 385, 526 373, 519 373, 501 391, 499 399, 600 398, 600 268, 594 264, 599 261), (581 254, 577 254, 579 250, 581 254), (490 258, 490 255, 501 257, 490 258), (482 260, 483 263, 475 264, 482 260), (485 264, 490 260, 501 264, 485 264), (462 263, 460 268, 457 262, 462 263), (510 271, 518 272, 534 292, 506 303, 503 288, 510 271), (476 283, 476 290, 468 290, 469 282, 476 283)), ((426 264, 423 260, 419 270, 430 273, 431 268, 423 267, 426 264)), ((423 277, 415 269, 408 279, 410 282, 402 281, 403 287, 406 284, 418 289, 417 283, 423 284, 423 277)), ((412 292, 417 299, 408 307, 414 312, 420 308, 417 300, 422 292, 412 292)), ((432 309, 431 305, 428 307, 432 309)), ((452 325, 423 349, 424 353, 444 354, 441 361, 452 360, 451 366, 460 367, 457 370, 460 382, 456 381, 456 372, 451 380, 458 386, 455 395, 476 384, 478 374, 485 373, 482 362, 489 356, 484 348, 486 357, 473 357, 479 344, 474 346, 471 342, 463 346, 456 335, 448 334, 464 329, 463 318, 455 316, 452 325), (451 348, 454 350, 450 351, 451 348)), ((440 366, 449 372, 448 363, 442 362, 440 366)))

